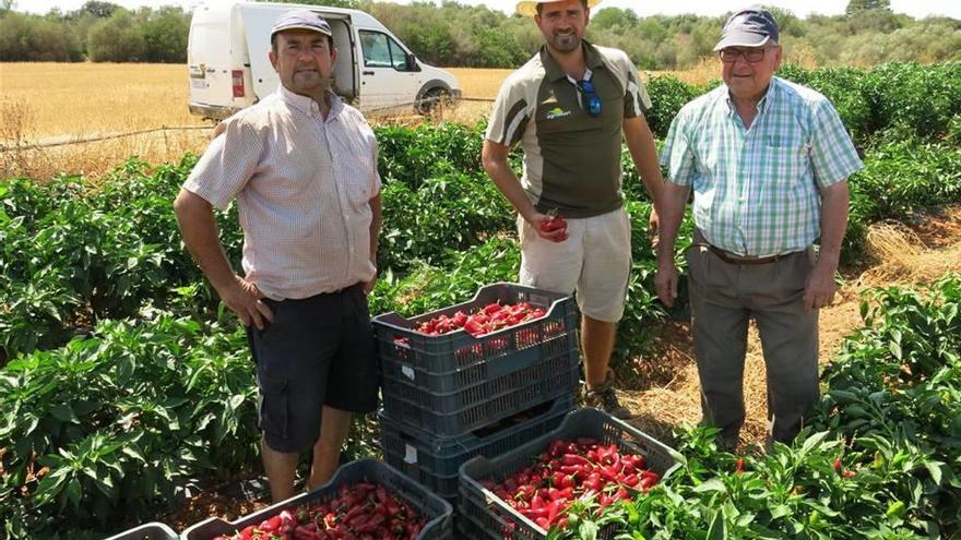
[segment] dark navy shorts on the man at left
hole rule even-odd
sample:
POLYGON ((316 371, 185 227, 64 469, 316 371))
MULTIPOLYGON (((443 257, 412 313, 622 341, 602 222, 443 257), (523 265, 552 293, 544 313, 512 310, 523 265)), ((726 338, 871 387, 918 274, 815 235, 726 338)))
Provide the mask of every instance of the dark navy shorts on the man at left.
POLYGON ((309 451, 324 405, 351 412, 377 408, 377 346, 361 285, 302 300, 264 302, 274 322, 248 326, 257 362, 260 429, 276 452, 309 451))

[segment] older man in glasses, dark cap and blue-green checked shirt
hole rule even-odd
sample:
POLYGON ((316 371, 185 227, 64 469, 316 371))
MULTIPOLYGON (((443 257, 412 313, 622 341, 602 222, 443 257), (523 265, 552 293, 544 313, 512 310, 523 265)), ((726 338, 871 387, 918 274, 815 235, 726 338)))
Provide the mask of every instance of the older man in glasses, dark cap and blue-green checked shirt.
POLYGON ((657 295, 667 305, 677 296, 675 241, 693 189, 687 260, 704 423, 736 445, 754 317, 769 434, 788 443, 818 399, 818 309, 837 291, 846 179, 863 164, 824 96, 774 76, 781 46, 768 11, 732 15, 714 50, 724 84, 680 110, 662 154, 657 295))

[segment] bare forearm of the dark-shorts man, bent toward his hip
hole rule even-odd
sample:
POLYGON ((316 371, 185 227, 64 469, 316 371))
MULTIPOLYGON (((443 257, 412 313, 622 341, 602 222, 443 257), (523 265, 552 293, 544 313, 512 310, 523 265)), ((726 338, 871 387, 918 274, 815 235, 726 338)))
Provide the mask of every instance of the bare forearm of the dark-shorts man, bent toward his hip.
POLYGON ((234 269, 224 253, 214 220, 213 208, 199 195, 181 190, 174 203, 180 235, 187 250, 215 289, 224 290, 235 279, 234 269))

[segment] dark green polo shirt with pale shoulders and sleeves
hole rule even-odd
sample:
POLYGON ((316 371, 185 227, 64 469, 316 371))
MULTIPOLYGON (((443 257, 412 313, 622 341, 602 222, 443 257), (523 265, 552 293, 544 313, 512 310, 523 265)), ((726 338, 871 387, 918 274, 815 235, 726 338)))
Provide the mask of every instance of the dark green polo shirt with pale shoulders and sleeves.
POLYGON ((621 50, 583 41, 601 115, 582 107, 577 86, 554 57, 541 51, 505 81, 486 137, 524 151, 521 185, 538 212, 592 217, 618 209, 621 192, 621 129, 651 100, 630 58, 621 50))

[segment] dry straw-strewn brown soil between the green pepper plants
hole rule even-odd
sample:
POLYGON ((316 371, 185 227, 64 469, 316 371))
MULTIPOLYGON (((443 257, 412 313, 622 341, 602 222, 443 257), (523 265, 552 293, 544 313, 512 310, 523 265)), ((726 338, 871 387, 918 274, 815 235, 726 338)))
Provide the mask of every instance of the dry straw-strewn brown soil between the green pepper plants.
MULTIPOLYGON (((843 338, 859 326, 864 290, 881 285, 927 283, 947 272, 961 272, 961 205, 912 216, 905 224, 873 226, 867 252, 871 262, 845 269, 834 304, 821 310, 822 364, 834 357, 843 338)), ((754 325, 748 339, 743 448, 762 445, 767 432, 764 363, 754 325)), ((700 387, 687 323, 666 323, 654 352, 622 368, 618 375, 619 385, 627 387, 618 391, 618 396, 636 415, 631 423, 652 436, 671 440, 675 427, 700 420, 700 387)), ((183 530, 209 516, 233 520, 269 504, 265 490, 252 497, 232 496, 225 491, 200 493, 185 507, 158 518, 183 530)))

